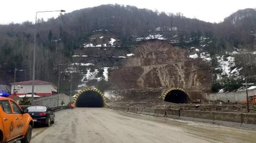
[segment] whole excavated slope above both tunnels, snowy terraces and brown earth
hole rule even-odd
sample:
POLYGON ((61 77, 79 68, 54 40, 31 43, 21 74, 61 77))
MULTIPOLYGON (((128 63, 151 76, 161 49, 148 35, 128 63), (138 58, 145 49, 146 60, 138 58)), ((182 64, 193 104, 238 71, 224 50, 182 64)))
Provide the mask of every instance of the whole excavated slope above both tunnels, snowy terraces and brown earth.
POLYGON ((190 52, 158 39, 123 46, 113 34, 95 32, 62 74, 73 74, 73 94, 96 87, 111 100, 161 100, 164 90, 179 87, 196 99, 211 89, 211 70, 209 61, 190 58, 190 52))

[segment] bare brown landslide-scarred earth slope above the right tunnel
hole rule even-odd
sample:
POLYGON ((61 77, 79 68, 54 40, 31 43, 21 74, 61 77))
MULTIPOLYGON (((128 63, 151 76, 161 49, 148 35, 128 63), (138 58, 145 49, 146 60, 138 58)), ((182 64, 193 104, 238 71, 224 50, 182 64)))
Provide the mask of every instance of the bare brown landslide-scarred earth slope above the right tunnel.
POLYGON ((109 82, 114 89, 180 87, 188 91, 209 91, 210 66, 202 59, 191 59, 186 49, 151 40, 133 49, 124 67, 112 70, 109 82))

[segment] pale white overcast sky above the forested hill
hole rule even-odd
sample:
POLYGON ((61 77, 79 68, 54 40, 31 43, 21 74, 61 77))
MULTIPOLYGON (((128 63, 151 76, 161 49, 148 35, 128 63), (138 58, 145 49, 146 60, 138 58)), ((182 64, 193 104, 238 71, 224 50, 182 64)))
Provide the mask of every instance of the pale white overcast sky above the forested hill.
MULTIPOLYGON (((181 12, 185 17, 220 22, 239 9, 255 8, 256 0, 0 0, 0 24, 35 21, 36 11, 60 10, 67 13, 102 4, 133 5, 159 12, 181 12)), ((59 12, 40 13, 47 20, 59 12)))

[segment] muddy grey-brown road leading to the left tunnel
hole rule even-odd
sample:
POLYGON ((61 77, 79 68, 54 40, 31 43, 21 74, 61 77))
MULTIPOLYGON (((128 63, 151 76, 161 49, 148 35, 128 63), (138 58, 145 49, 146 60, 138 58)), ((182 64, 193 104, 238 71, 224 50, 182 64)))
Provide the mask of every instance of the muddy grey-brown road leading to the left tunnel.
POLYGON ((112 111, 58 111, 50 127, 33 129, 31 143, 255 143, 256 131, 112 111))

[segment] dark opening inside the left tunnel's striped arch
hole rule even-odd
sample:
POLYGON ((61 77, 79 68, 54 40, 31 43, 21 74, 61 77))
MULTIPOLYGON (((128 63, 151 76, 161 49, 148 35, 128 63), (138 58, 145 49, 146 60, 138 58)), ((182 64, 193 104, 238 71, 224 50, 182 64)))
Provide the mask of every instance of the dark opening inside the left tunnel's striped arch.
POLYGON ((104 100, 98 92, 89 90, 79 95, 76 107, 104 107, 104 100))

